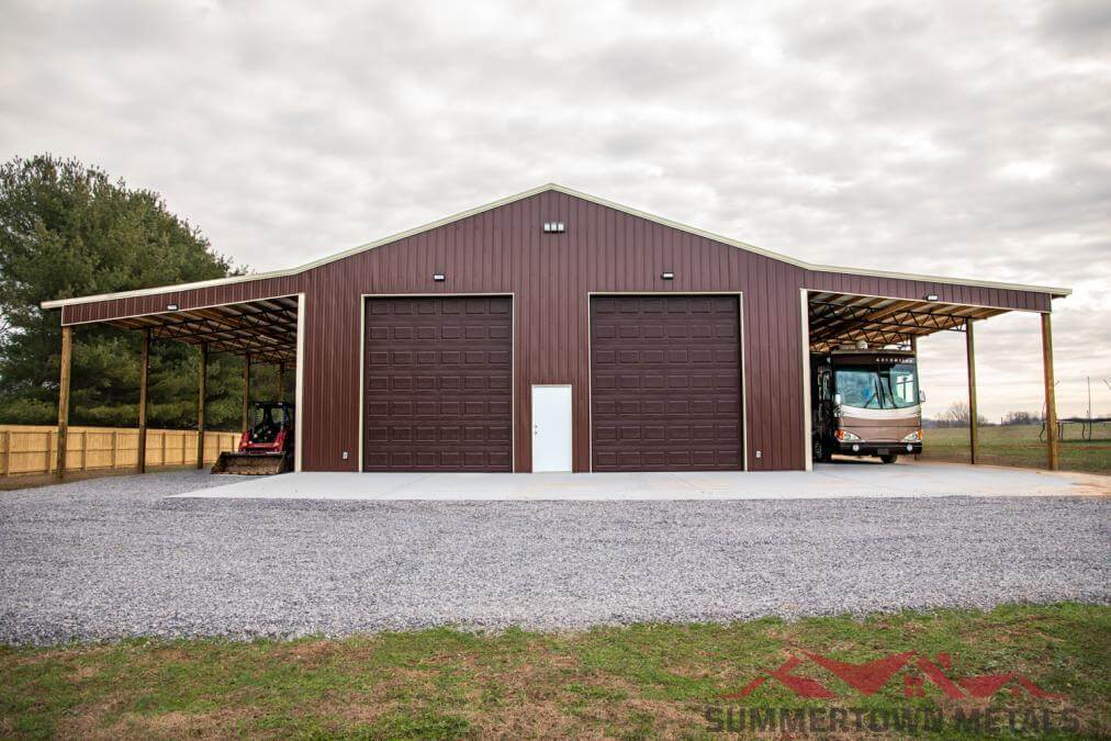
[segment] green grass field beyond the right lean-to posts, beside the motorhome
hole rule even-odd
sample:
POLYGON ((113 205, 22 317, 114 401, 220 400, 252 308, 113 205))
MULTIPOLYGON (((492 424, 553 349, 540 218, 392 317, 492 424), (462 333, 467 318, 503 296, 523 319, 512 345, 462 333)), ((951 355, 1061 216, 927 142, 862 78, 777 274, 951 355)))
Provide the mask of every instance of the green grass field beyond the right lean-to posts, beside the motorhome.
MULTIPOLYGON (((993 465, 1045 468, 1045 443, 1038 439, 1040 424, 980 428, 980 462, 993 465)), ((923 460, 969 461, 968 428, 922 431, 923 460)), ((1061 441, 1061 470, 1111 473, 1111 425, 1097 424, 1093 440, 1081 440, 1080 428, 1068 425, 1061 441)))

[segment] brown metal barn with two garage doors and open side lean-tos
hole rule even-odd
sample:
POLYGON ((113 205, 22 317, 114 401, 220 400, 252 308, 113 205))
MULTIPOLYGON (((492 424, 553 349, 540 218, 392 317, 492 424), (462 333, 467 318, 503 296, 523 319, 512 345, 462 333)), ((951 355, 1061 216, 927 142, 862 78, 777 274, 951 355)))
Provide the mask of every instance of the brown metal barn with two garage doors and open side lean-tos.
POLYGON ((810 348, 1039 312, 1051 397, 1068 293, 812 266, 548 184, 301 268, 42 306, 63 433, 69 328, 107 322, 296 368, 298 470, 531 471, 549 387, 574 471, 802 470, 810 348))

